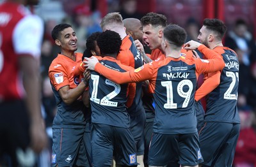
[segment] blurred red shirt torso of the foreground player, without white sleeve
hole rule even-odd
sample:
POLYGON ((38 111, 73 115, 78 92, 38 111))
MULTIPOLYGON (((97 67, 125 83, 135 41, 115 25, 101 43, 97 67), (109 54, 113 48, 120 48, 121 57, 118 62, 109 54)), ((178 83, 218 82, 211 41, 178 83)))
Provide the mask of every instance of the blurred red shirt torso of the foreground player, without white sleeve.
POLYGON ((20 99, 24 95, 22 81, 18 76, 18 55, 15 51, 18 46, 13 47, 13 39, 15 27, 27 15, 26 12, 27 10, 17 3, 0 5, 0 99, 20 99))

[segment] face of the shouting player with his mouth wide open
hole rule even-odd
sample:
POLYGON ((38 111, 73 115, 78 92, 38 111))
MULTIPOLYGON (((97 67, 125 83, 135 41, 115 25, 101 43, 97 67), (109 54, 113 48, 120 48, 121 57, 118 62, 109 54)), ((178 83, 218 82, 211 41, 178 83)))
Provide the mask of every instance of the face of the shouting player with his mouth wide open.
POLYGON ((150 50, 161 48, 162 38, 159 36, 159 28, 153 27, 151 24, 143 26, 143 40, 150 50))

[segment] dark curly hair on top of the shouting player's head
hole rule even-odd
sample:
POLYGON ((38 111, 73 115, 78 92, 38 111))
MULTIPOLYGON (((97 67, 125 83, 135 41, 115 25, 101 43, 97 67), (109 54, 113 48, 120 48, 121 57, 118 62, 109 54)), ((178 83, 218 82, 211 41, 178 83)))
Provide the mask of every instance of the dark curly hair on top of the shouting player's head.
POLYGON ((159 25, 162 25, 162 27, 166 27, 167 25, 167 18, 165 15, 159 14, 159 13, 154 13, 150 12, 147 13, 145 16, 143 16, 140 20, 141 24, 148 25, 151 24, 154 27, 157 27, 159 25))

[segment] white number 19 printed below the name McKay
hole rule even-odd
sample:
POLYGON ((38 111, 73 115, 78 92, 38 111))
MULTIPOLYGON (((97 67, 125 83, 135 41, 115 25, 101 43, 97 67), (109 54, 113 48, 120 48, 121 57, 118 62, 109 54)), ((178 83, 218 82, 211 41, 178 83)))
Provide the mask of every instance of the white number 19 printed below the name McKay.
MULTIPOLYGON (((172 81, 164 81, 161 82, 161 85, 163 87, 166 87, 166 96, 167 96, 167 103, 164 104, 164 108, 168 109, 175 109, 177 108, 177 103, 173 103, 173 87, 172 87, 172 81)), ((193 83, 191 80, 182 80, 177 85, 177 92, 180 97, 185 98, 184 102, 182 103, 182 108, 186 108, 189 103, 189 99, 191 96, 191 92, 193 91, 193 83), (184 92, 183 87, 187 85, 188 91, 184 92)))

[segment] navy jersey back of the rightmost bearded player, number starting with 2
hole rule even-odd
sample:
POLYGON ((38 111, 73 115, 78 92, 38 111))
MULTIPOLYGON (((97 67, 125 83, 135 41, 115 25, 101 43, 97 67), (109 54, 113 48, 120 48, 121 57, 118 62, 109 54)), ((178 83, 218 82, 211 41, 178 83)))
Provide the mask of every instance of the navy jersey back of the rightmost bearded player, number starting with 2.
POLYGON ((237 110, 239 61, 237 54, 227 47, 216 47, 213 50, 223 57, 225 68, 217 75, 205 74, 208 77, 208 82, 220 80, 220 84, 206 98, 205 121, 239 123, 237 110))

